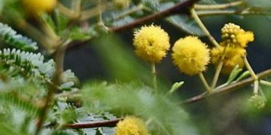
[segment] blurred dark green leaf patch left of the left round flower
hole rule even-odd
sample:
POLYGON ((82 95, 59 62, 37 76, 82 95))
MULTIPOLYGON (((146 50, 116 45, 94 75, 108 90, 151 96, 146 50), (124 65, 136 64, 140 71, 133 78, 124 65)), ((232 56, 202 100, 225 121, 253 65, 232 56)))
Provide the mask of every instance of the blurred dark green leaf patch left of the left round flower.
POLYGON ((101 61, 104 61, 104 66, 112 79, 117 78, 121 81, 140 79, 147 84, 152 84, 147 68, 131 55, 133 51, 126 47, 116 35, 103 34, 94 42, 96 52, 101 56, 101 61), (135 70, 134 67, 138 70, 135 70))

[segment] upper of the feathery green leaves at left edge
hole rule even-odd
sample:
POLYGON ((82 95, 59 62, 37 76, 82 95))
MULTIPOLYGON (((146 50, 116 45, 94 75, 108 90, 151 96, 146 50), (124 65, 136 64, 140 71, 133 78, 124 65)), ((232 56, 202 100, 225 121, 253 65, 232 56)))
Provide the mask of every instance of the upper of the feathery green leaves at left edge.
POLYGON ((10 45, 10 47, 27 51, 38 49, 36 42, 17 34, 10 26, 2 23, 0 23, 0 43, 1 45, 10 45))

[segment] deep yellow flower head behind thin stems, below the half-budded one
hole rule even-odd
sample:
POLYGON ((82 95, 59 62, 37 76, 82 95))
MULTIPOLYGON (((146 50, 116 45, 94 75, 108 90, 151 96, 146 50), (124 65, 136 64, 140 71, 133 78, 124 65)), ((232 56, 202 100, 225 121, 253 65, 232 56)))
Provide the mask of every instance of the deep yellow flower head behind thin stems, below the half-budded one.
MULTIPOLYGON (((218 65, 222 57, 225 47, 214 47, 211 51, 212 53, 212 63, 218 65)), ((244 67, 243 56, 246 55, 246 50, 242 47, 226 47, 225 58, 221 72, 223 74, 230 74, 235 65, 239 65, 239 68, 244 67)))

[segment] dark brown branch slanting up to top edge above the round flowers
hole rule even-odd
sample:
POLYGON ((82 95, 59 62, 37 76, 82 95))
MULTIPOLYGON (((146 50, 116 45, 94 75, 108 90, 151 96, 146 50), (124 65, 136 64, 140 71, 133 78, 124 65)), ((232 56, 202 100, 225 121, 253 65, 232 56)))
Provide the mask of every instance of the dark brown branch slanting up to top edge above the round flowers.
MULTIPOLYGON (((123 26, 117 26, 117 27, 112 27, 109 29, 110 32, 117 32, 117 31, 123 31, 126 29, 131 29, 133 27, 142 25, 146 22, 152 21, 154 19, 159 19, 161 17, 168 17, 170 15, 175 15, 177 13, 190 13, 189 8, 191 8, 196 2, 200 0, 187 0, 184 2, 177 3, 175 6, 168 8, 166 10, 154 13, 152 15, 148 15, 146 17, 142 17, 140 19, 136 19, 134 22, 130 22, 128 24, 124 24, 123 26)), ((85 45, 89 40, 82 40, 78 42, 73 42, 71 45, 68 45, 68 49, 75 48, 81 45, 85 45)))

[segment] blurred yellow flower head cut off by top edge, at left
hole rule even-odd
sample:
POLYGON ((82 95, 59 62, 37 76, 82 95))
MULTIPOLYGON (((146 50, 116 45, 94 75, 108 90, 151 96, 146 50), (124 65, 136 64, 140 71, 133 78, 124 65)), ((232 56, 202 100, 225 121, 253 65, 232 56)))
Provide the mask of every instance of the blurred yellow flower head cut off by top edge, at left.
POLYGON ((36 16, 53 10, 57 0, 22 0, 22 5, 29 15, 36 16))

